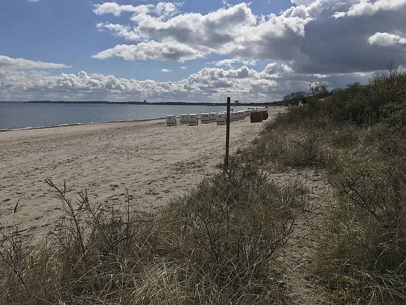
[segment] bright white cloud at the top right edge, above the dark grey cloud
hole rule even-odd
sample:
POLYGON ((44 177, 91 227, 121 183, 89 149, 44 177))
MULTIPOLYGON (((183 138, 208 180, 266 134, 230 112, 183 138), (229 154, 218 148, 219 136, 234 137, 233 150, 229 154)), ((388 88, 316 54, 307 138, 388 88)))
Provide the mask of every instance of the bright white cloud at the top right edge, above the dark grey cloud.
POLYGON ((334 18, 341 18, 344 16, 362 16, 374 15, 379 11, 393 11, 398 10, 406 5, 406 0, 358 0, 358 3, 353 4, 348 12, 335 12, 334 18))

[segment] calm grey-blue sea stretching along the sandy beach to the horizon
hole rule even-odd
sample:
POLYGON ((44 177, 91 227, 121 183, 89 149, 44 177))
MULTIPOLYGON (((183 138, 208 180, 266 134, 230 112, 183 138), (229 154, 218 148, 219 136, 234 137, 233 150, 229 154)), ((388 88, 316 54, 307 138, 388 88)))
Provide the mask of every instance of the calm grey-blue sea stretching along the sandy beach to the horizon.
MULTIPOLYGON (((246 107, 233 107, 244 110, 246 107)), ((0 131, 153 119, 166 115, 225 111, 226 106, 31 104, 0 102, 0 131)))

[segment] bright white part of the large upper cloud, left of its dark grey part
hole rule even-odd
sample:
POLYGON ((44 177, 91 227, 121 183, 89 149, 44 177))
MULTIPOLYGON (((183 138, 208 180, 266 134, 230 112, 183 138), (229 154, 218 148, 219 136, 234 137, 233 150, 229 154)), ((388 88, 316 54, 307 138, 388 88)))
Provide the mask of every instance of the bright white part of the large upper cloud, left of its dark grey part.
MULTIPOLYGON (((158 5, 155 10, 157 8, 158 5)), ((172 9, 167 10, 172 13, 172 9)), ((116 12, 118 14, 117 10, 116 12)), ((229 57, 272 59, 286 53, 277 46, 280 40, 299 42, 304 37, 304 25, 311 20, 309 14, 303 17, 293 12, 281 16, 270 14, 260 19, 252 13, 248 4, 241 3, 206 15, 179 14, 167 20, 153 16, 152 13, 134 12, 131 17, 132 26, 99 23, 97 27, 109 29, 116 36, 138 42, 127 46, 127 49, 136 50, 139 46, 145 48, 146 44, 151 42, 167 47, 173 46, 175 49, 182 46, 182 50, 187 50, 185 56, 182 55, 183 52, 178 52, 179 56, 167 56, 160 54, 162 48, 158 47, 151 49, 147 56, 132 56, 133 60, 143 57, 143 59, 183 61, 205 57, 211 53, 229 57)), ((122 50, 123 45, 118 45, 117 48, 122 50)), ((94 58, 121 56, 121 52, 114 49, 102 51, 94 58)), ((122 57, 127 60, 130 58, 130 56, 122 57)))

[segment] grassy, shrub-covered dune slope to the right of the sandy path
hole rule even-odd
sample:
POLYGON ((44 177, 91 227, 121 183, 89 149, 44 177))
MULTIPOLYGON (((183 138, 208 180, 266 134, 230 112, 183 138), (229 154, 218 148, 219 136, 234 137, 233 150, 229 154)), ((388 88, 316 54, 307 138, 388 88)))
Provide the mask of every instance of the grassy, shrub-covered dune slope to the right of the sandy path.
POLYGON ((333 303, 406 301, 405 109, 406 73, 392 67, 289 109, 249 151, 280 168, 328 171, 334 194, 318 224, 314 272, 333 303))

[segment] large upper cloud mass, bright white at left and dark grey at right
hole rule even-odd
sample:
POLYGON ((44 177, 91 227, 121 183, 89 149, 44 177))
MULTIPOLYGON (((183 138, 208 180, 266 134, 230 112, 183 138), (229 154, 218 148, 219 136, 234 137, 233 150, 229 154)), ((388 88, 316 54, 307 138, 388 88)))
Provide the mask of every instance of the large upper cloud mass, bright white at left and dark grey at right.
POLYGON ((213 65, 249 67, 261 60, 286 63, 308 75, 369 73, 382 69, 390 58, 406 65, 403 49, 383 52, 367 41, 374 33, 406 32, 405 2, 294 0, 295 5, 279 15, 255 15, 249 4, 241 3, 207 14, 175 12, 164 19, 154 13, 154 6, 148 12, 131 13, 128 24, 99 23, 99 29, 131 43, 93 57, 185 62, 221 55, 230 59, 213 65), (352 18, 341 18, 345 16, 352 18))

